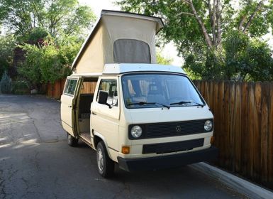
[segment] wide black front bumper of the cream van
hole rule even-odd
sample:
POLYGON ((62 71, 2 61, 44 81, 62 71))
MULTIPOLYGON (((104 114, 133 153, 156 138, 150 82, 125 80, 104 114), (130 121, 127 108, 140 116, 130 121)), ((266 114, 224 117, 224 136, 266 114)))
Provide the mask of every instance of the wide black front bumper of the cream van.
POLYGON ((201 161, 212 161, 218 156, 218 149, 211 146, 208 149, 151 158, 121 158, 118 166, 126 171, 149 171, 155 169, 179 167, 201 161))

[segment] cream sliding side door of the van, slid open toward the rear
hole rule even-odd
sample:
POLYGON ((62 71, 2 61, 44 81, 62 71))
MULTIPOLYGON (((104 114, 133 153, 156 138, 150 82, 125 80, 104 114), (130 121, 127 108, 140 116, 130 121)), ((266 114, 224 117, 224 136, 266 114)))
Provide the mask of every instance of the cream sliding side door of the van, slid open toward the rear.
POLYGON ((72 136, 77 136, 76 128, 76 104, 79 94, 80 77, 67 77, 65 89, 61 97, 62 127, 72 136))

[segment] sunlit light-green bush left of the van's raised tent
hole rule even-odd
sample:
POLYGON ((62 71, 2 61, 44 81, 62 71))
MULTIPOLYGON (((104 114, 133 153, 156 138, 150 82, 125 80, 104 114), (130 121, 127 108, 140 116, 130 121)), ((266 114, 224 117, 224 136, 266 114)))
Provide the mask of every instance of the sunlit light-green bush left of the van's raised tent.
POLYGON ((26 60, 18 72, 33 86, 42 82, 55 82, 70 75, 70 66, 82 45, 82 41, 74 36, 60 40, 49 36, 45 43, 47 45, 21 46, 26 52, 26 60))

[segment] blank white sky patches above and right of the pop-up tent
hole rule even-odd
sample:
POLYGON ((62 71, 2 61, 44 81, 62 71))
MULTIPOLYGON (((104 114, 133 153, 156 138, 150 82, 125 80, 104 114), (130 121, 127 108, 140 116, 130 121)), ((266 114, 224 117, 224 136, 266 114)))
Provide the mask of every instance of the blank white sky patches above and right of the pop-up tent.
MULTIPOLYGON (((97 17, 99 17, 102 9, 120 11, 120 7, 113 4, 113 2, 113 0, 79 0, 79 4, 91 6, 97 17)), ((165 45, 165 48, 162 49, 161 54, 165 58, 171 58, 173 60, 172 65, 181 67, 184 63, 184 59, 177 56, 177 50, 172 42, 165 45)))

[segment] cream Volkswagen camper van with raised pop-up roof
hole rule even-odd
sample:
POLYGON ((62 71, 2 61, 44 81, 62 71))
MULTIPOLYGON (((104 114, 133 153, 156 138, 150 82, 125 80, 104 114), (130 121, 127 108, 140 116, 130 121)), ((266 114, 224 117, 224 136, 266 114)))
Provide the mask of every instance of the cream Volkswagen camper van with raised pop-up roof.
POLYGON ((99 174, 216 158, 213 114, 182 68, 156 64, 161 18, 101 11, 61 97, 70 146, 96 150, 99 174))

